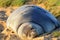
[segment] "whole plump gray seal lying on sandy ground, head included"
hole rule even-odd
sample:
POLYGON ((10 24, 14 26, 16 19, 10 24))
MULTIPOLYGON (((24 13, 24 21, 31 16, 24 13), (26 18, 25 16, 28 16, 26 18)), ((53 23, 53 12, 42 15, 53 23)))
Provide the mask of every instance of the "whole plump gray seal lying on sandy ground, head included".
POLYGON ((13 29, 21 38, 49 33, 56 27, 59 27, 57 19, 36 5, 21 6, 7 19, 7 28, 13 29))

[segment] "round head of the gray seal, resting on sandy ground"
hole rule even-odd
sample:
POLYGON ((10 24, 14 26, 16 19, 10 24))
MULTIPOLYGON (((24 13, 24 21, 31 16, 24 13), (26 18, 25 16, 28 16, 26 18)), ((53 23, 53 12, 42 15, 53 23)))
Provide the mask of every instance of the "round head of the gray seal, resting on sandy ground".
POLYGON ((23 23, 18 29, 18 35, 21 38, 23 37, 33 38, 41 33, 43 33, 43 29, 41 28, 41 26, 32 22, 23 23))

